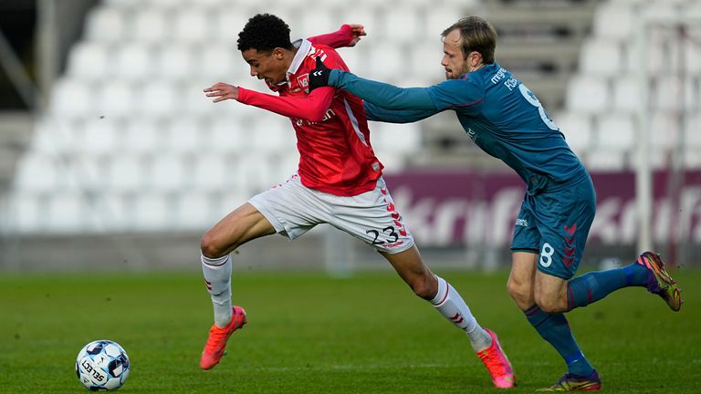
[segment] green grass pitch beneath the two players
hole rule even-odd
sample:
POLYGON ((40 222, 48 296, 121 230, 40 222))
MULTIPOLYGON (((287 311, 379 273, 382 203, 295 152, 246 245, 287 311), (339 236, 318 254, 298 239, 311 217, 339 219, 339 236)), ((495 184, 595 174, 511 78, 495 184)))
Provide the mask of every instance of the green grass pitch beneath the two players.
MULTIPOLYGON (((511 392, 560 378, 564 364, 507 296, 507 273, 438 272, 517 373, 511 392)), ((603 392, 699 392, 701 271, 672 273, 685 298, 671 312, 643 288, 623 289, 568 316, 603 392)), ((210 371, 198 368, 212 306, 197 272, 0 276, 0 392, 83 393, 80 347, 112 339, 127 350, 129 393, 497 392, 466 336, 391 272, 237 273, 248 324, 210 371)))

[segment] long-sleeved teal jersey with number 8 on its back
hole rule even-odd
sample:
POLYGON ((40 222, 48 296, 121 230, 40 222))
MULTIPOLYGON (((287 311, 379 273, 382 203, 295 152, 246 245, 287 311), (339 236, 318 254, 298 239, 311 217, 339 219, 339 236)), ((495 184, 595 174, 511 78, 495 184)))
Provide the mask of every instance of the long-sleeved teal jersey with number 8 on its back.
POLYGON ((497 63, 428 88, 397 88, 340 70, 329 77, 329 85, 366 101, 369 120, 409 123, 454 110, 470 139, 514 169, 529 194, 586 174, 533 92, 497 63))

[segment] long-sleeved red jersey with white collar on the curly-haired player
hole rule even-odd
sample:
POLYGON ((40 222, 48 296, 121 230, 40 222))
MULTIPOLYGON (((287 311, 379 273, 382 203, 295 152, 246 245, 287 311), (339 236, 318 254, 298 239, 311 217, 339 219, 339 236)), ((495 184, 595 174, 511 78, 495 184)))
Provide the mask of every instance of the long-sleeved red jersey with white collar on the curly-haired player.
POLYGON ((238 101, 287 116, 297 132, 298 173, 302 184, 320 192, 351 196, 374 189, 382 163, 370 144, 361 99, 339 88, 309 93, 309 72, 319 57, 327 67, 348 70, 331 47, 298 40, 287 80, 268 86, 279 97, 238 89, 238 101))

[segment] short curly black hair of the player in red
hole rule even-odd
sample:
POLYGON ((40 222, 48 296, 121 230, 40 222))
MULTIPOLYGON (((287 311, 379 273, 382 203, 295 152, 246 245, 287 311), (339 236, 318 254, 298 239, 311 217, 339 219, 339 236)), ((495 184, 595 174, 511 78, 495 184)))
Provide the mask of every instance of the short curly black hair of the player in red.
POLYGON ((277 47, 292 49, 289 26, 282 19, 270 14, 257 14, 248 19, 238 34, 238 50, 256 49, 270 52, 277 47))

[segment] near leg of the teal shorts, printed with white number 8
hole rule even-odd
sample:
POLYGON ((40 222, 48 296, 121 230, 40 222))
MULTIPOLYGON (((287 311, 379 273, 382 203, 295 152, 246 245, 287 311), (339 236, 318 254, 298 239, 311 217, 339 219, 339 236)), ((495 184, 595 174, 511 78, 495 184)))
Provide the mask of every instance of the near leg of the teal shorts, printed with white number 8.
POLYGON ((591 179, 572 182, 557 192, 534 197, 540 233, 538 269, 543 274, 570 279, 577 272, 596 212, 591 179))

